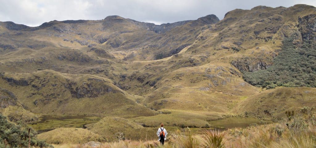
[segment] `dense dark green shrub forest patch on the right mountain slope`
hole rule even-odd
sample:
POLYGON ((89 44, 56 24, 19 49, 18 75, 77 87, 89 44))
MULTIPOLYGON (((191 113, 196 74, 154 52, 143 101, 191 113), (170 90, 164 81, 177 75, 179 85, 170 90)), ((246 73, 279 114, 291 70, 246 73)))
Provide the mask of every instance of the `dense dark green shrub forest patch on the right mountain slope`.
POLYGON ((316 87, 316 42, 296 47, 293 38, 283 40, 282 50, 273 59, 273 65, 256 72, 245 72, 243 78, 251 85, 267 89, 276 86, 316 87))

